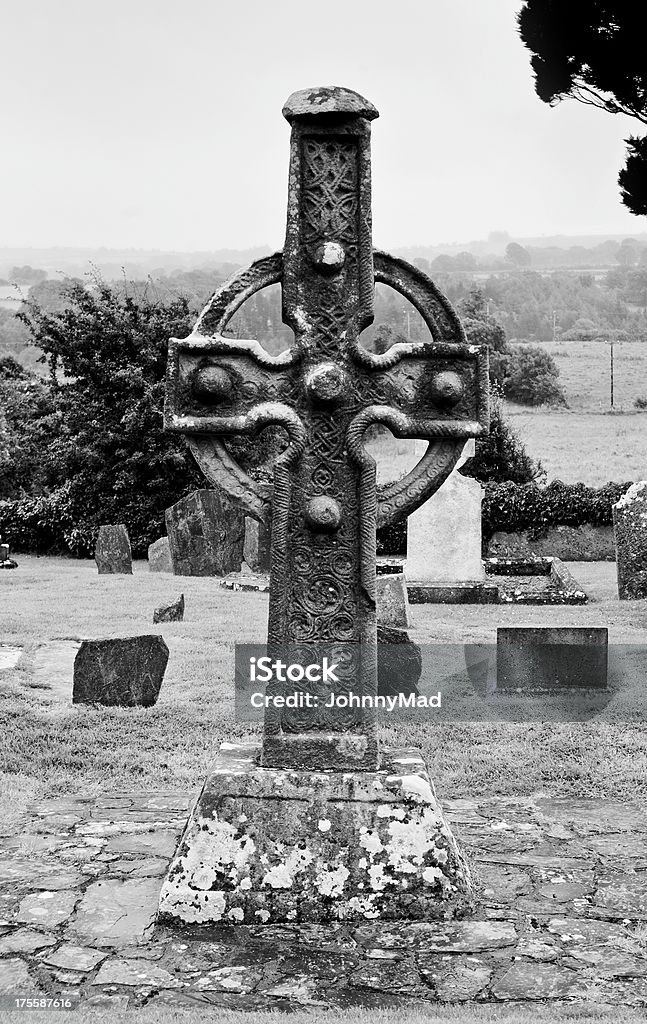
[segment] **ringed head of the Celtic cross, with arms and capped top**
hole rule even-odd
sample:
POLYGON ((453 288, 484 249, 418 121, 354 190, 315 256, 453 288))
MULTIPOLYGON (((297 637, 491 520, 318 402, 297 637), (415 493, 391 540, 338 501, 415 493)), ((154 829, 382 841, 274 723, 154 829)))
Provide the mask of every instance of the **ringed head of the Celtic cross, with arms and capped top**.
POLYGON ((292 125, 284 251, 222 285, 190 337, 173 339, 165 425, 187 435, 207 478, 260 521, 272 517, 283 467, 303 488, 301 516, 311 529, 339 527, 355 473, 364 481, 361 515, 388 525, 440 486, 468 437, 486 432, 486 353, 467 344, 459 317, 426 274, 373 249, 373 104, 348 89, 321 88, 294 93, 283 113, 292 125), (373 322, 376 283, 418 309, 429 341, 395 344, 383 354, 360 343, 373 322), (294 346, 270 355, 258 341, 225 338, 244 302, 276 284, 294 346), (363 444, 373 424, 430 442, 411 472, 377 492, 363 444), (274 464, 273 488, 246 473, 224 443, 270 425, 283 427, 290 442, 274 464))

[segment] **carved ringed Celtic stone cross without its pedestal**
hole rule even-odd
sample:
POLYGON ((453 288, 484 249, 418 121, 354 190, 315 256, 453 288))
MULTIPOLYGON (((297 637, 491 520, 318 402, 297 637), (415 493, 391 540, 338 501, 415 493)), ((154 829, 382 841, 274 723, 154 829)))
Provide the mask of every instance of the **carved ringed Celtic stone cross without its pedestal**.
MULTIPOLYGON (((422 271, 373 250, 373 104, 348 89, 306 89, 283 113, 292 125, 285 249, 225 283, 190 337, 171 341, 165 425, 187 435, 211 482, 249 515, 271 519, 270 647, 347 645, 356 652, 352 689, 370 696, 377 691, 376 525, 421 505, 465 439, 487 430, 487 357, 466 343, 457 314, 422 271), (417 307, 431 340, 382 355, 362 346, 376 282, 417 307), (272 356, 258 342, 224 338, 243 302, 276 283, 294 347, 272 356), (363 443, 376 423, 430 442, 412 472, 380 492, 363 443), (273 424, 289 444, 270 490, 241 469, 223 440, 273 424)), ((347 691, 348 677, 332 685, 347 691)), ((263 767, 371 771, 378 762, 368 708, 321 708, 307 719, 265 713, 263 767)))

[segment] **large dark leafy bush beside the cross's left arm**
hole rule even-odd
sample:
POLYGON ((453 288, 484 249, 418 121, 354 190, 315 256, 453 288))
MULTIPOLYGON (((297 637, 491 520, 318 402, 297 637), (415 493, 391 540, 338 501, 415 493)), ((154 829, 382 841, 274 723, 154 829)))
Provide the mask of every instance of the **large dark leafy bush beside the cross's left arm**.
POLYGON ((66 489, 83 537, 124 522, 142 554, 163 531, 164 510, 203 483, 184 440, 163 432, 167 346, 190 332, 186 301, 71 283, 62 310, 29 302, 20 315, 50 370, 51 485, 66 489))

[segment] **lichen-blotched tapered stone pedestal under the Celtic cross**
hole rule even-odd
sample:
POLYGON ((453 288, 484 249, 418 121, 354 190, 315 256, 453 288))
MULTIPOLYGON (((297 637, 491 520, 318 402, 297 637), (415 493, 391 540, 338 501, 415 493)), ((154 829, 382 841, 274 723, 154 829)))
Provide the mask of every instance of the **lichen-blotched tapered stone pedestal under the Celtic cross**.
POLYGON ((419 752, 374 772, 259 768, 223 743, 171 861, 159 920, 265 924, 444 920, 471 909, 469 868, 419 752))

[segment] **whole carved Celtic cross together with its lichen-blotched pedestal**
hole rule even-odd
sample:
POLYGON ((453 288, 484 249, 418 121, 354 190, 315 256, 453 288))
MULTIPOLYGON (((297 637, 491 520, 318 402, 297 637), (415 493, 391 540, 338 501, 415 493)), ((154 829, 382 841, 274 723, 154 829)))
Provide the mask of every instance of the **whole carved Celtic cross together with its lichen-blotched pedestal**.
MULTIPOLYGON (((425 501, 465 438, 486 430, 487 360, 419 269, 373 251, 370 122, 346 89, 292 95, 283 253, 225 283, 191 336, 169 350, 166 426, 249 515, 271 516, 268 650, 296 668, 335 657, 339 675, 267 686, 262 746, 224 743, 191 812, 160 899, 161 920, 264 923, 444 918, 470 901, 457 848, 418 752, 378 748, 376 523, 425 501), (432 335, 383 355, 359 342, 375 282, 420 310, 432 335), (269 355, 223 337, 242 302, 281 283, 295 345, 269 355), (430 443, 379 493, 366 429, 430 443), (251 479, 223 439, 282 426, 273 488, 251 479), (326 654, 323 654, 326 656, 326 654), (352 698, 352 699, 351 699, 352 698)), ((250 678, 251 675, 250 675, 250 678)))

